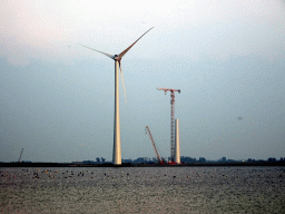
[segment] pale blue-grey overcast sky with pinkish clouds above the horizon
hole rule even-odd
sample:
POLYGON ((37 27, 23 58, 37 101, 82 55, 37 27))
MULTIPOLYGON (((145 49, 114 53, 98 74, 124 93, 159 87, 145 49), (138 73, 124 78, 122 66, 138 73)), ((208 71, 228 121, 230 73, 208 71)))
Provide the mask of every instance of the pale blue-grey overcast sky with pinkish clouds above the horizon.
POLYGON ((0 162, 111 160, 120 54, 122 158, 285 156, 285 7, 277 0, 0 2, 0 162))

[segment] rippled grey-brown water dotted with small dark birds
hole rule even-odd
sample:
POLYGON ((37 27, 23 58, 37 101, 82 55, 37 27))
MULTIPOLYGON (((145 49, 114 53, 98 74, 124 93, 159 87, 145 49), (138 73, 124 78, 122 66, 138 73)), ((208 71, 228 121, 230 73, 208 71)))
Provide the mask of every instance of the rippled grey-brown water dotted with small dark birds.
POLYGON ((284 212, 284 167, 0 168, 0 213, 284 212))

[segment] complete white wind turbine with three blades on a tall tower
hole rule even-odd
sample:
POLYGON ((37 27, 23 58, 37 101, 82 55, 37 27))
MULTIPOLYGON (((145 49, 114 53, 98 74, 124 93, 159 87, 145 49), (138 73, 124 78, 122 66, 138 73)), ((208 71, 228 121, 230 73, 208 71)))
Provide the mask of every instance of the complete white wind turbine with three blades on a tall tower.
MULTIPOLYGON (((154 28, 154 27, 153 27, 154 28)), ((151 30, 150 28, 149 30, 151 30)), ((131 43, 126 50, 124 50, 119 55, 109 55, 92 48, 89 48, 87 46, 83 46, 88 49, 95 50, 97 52, 100 52, 111 59, 115 60, 115 118, 114 118, 114 150, 112 150, 112 164, 114 165, 121 165, 121 149, 120 149, 120 113, 119 113, 119 69, 120 74, 122 75, 121 71, 121 66, 120 61, 121 58, 129 51, 129 49, 141 38, 144 37, 149 30, 147 30, 142 36, 140 36, 134 43, 131 43)), ((124 77, 122 77, 124 80, 124 77)), ((124 86, 125 88, 125 86, 124 86)), ((126 96, 126 91, 125 91, 126 96)))

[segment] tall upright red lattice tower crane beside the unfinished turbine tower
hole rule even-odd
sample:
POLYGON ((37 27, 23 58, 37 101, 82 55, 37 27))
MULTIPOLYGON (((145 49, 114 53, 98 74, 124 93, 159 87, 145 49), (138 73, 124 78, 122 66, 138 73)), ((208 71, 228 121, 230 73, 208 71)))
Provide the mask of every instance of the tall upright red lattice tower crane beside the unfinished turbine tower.
POLYGON ((175 152, 174 150, 175 149, 175 111, 174 111, 175 93, 178 91, 180 94, 180 89, 157 88, 157 90, 164 90, 165 95, 168 90, 171 93, 171 95, 170 95, 170 105, 171 105, 171 109, 170 109, 170 133, 171 133, 171 137, 170 137, 170 157, 171 157, 171 162, 174 162, 174 152, 175 152))

